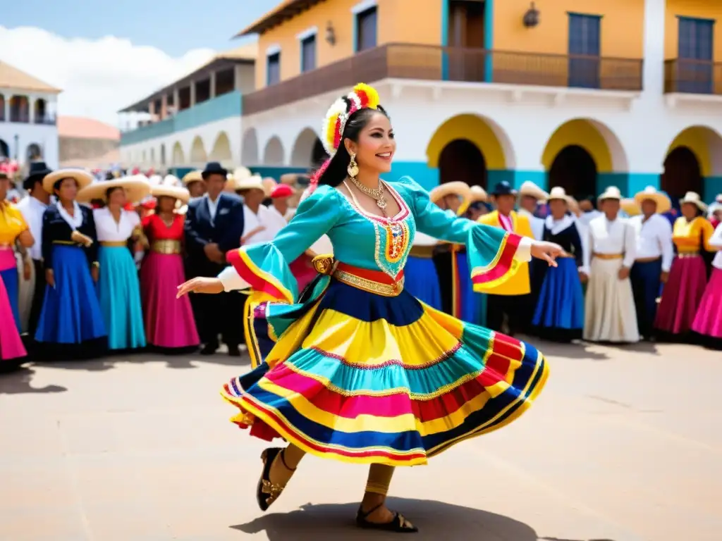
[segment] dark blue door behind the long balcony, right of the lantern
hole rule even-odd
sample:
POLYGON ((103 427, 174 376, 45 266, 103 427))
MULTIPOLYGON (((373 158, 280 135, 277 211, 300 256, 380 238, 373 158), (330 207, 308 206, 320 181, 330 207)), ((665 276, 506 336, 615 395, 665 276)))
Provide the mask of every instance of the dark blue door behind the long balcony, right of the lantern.
POLYGON ((569 86, 599 88, 601 17, 569 14, 569 86))

